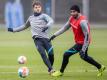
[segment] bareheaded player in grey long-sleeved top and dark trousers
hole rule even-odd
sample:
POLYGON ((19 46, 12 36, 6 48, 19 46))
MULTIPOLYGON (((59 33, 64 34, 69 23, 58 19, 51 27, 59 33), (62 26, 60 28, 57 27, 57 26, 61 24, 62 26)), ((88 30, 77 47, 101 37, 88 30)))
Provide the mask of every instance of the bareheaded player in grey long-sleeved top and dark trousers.
POLYGON ((49 37, 47 30, 53 24, 53 19, 47 14, 42 13, 42 4, 39 1, 33 2, 33 15, 31 15, 26 23, 17 28, 8 28, 10 32, 19 32, 31 28, 32 38, 36 45, 38 52, 40 53, 43 62, 48 67, 48 72, 53 72, 54 63, 54 53, 51 43, 49 42, 49 37), (46 52, 48 53, 48 57, 46 52))

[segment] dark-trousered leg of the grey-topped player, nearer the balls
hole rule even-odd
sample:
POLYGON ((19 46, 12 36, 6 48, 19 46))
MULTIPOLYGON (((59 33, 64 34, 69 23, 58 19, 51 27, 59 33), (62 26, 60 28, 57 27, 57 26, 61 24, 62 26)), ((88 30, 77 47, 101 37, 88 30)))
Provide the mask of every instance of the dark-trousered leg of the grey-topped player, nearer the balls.
POLYGON ((41 39, 34 40, 34 42, 35 42, 37 50, 40 53, 45 65, 48 67, 49 70, 52 70, 51 63, 50 63, 49 59, 46 56, 45 49, 43 47, 43 43, 41 42, 41 39))

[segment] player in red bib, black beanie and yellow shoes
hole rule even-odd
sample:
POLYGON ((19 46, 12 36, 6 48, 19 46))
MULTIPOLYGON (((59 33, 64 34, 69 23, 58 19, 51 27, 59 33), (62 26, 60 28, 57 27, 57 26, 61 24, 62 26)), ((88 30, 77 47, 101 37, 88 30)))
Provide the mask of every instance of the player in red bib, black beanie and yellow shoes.
POLYGON ((90 25, 84 15, 80 13, 80 8, 78 5, 73 5, 70 8, 71 16, 67 23, 58 30, 54 35, 50 38, 50 41, 53 40, 56 36, 67 31, 69 28, 72 28, 74 33, 75 45, 65 51, 63 55, 62 66, 60 71, 56 71, 52 73, 52 76, 61 76, 64 73, 64 70, 69 62, 70 56, 79 52, 81 59, 86 61, 87 63, 92 64, 97 67, 99 73, 97 76, 101 76, 103 71, 105 70, 105 66, 99 64, 92 57, 88 55, 88 46, 90 44, 90 25))

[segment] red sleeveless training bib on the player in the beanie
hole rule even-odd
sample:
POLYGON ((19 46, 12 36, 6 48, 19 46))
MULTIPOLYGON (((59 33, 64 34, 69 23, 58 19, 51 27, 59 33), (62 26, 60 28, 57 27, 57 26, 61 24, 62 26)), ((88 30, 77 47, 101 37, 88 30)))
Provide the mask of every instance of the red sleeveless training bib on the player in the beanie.
MULTIPOLYGON (((81 21, 86 20, 85 16, 80 16, 78 19, 75 19, 74 17, 70 17, 70 25, 74 33, 75 42, 78 44, 84 44, 84 33, 81 28, 81 21)), ((88 24, 88 30, 89 30, 89 43, 90 43, 90 25, 88 24)))

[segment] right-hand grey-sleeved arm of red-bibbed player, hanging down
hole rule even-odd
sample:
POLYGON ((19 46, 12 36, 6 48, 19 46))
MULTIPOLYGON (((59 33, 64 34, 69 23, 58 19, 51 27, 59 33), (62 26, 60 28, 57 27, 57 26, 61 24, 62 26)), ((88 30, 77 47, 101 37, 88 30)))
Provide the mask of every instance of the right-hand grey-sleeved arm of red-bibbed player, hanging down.
POLYGON ((83 31, 84 37, 85 37, 84 38, 84 44, 82 47, 82 51, 85 52, 86 49, 88 48, 88 45, 89 45, 89 29, 88 29, 87 20, 81 21, 80 25, 81 25, 81 28, 82 28, 82 31, 83 31))

